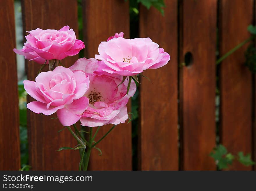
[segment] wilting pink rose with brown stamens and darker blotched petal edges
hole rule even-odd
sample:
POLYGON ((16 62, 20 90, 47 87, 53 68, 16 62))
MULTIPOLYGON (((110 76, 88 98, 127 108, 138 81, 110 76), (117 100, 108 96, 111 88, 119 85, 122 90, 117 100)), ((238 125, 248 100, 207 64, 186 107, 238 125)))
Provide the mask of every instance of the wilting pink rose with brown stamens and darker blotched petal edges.
POLYGON ((70 67, 74 72, 85 72, 90 78, 90 87, 84 95, 89 98, 89 106, 80 119, 83 126, 124 123, 128 118, 126 104, 136 91, 136 85, 132 81, 129 93, 126 94, 128 82, 119 85, 122 81, 120 75, 114 77, 94 74, 100 63, 94 58, 81 58, 70 67))

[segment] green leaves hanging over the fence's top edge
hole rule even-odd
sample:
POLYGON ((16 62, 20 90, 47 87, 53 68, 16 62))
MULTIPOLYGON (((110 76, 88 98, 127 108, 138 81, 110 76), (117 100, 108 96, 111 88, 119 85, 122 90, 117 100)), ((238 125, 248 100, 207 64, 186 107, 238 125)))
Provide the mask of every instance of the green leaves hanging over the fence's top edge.
MULTIPOLYGON (((127 1, 127 0, 125 0, 127 1)), ((134 12, 135 14, 138 14, 138 3, 141 3, 144 5, 147 9, 150 9, 151 6, 156 8, 160 11, 160 13, 164 16, 164 10, 165 7, 163 0, 130 0, 130 13, 134 12)))

